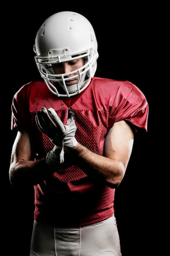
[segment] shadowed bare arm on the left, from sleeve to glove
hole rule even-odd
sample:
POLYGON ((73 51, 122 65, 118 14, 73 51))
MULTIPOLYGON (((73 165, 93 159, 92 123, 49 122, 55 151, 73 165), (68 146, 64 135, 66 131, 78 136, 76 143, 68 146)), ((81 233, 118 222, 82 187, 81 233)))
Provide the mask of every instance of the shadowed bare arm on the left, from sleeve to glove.
POLYGON ((29 132, 18 131, 9 167, 9 179, 13 186, 35 185, 53 173, 45 158, 35 160, 32 152, 29 132))

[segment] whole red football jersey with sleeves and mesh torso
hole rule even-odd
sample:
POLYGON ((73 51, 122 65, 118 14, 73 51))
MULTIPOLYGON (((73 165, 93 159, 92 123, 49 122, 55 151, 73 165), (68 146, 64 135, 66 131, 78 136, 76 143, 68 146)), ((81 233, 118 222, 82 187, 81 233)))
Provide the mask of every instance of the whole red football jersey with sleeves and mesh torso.
MULTIPOLYGON (((103 154, 106 134, 115 122, 126 120, 134 127, 135 137, 147 131, 148 102, 129 81, 93 77, 88 87, 73 98, 55 96, 44 81, 30 82, 13 97, 11 129, 31 130, 35 159, 46 156, 54 146, 36 126, 36 112, 42 107, 54 108, 66 124, 70 106, 77 125, 75 138, 99 155, 103 154)), ((74 163, 34 189, 34 218, 38 222, 79 227, 100 222, 114 213, 115 189, 93 180, 74 163)))

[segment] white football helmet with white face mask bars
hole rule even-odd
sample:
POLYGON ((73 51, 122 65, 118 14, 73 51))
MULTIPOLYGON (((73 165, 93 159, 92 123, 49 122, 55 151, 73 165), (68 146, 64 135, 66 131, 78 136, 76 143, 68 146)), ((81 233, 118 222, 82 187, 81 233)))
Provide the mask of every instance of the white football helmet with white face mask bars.
POLYGON ((82 92, 97 69, 97 39, 91 23, 81 14, 61 11, 41 25, 33 47, 35 62, 49 90, 58 97, 71 97, 82 92), (65 74, 55 74, 52 64, 84 57, 84 65, 65 74), (78 73, 78 74, 76 74, 78 73), (67 76, 79 76, 76 85, 66 86, 67 76), (56 85, 57 82, 57 85, 56 85), (62 87, 62 88, 61 88, 62 87), (62 89, 62 92, 61 92, 62 89))

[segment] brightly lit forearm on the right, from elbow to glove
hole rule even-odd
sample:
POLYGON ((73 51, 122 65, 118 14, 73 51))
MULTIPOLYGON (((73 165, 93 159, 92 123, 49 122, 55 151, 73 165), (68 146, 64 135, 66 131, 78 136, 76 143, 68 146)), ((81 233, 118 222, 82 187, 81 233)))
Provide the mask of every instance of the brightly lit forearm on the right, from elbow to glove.
POLYGON ((65 147, 64 150, 84 173, 111 188, 117 187, 124 177, 126 168, 121 162, 97 155, 79 143, 73 148, 65 147))

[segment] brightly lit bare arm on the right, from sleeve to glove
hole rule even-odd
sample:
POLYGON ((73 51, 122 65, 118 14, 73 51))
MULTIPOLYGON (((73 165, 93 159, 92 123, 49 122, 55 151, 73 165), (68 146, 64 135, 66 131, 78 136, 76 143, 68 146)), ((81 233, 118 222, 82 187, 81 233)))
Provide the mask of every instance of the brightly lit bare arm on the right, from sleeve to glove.
POLYGON ((119 186, 124 177, 132 153, 134 134, 125 121, 119 121, 109 130, 104 145, 104 156, 91 152, 77 144, 65 147, 75 163, 88 175, 105 182, 107 186, 119 186))

